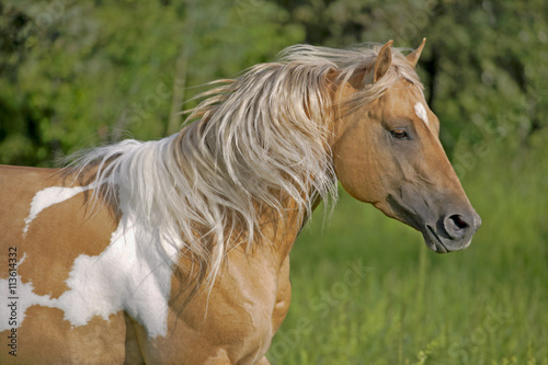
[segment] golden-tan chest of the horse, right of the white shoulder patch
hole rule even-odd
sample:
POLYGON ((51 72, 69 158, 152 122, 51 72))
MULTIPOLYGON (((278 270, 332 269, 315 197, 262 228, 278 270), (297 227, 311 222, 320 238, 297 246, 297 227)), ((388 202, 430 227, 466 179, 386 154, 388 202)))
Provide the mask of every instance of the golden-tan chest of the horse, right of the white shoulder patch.
POLYGON ((285 318, 289 297, 288 260, 282 270, 262 260, 228 261, 210 293, 201 290, 183 308, 170 309, 167 337, 145 340, 146 333, 138 326, 137 332, 146 342, 140 345, 146 349, 145 360, 255 363, 266 353, 285 318))

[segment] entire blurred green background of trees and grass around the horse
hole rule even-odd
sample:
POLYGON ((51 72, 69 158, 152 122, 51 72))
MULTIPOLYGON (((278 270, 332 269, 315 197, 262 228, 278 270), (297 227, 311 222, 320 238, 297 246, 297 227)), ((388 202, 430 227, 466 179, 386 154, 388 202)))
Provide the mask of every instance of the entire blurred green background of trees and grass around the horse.
MULTIPOLYGON (((296 43, 427 37, 420 75, 483 219, 466 251, 342 193, 292 253, 274 364, 548 364, 548 2, 0 3, 0 163, 178 130, 198 85, 296 43)), ((321 210, 321 209, 319 209, 321 210)))

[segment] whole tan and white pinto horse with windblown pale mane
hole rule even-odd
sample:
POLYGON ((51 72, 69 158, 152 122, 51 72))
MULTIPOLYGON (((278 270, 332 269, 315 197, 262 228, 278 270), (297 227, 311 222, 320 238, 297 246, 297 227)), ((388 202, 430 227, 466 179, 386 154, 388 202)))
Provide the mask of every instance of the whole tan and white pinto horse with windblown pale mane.
POLYGON ((180 133, 0 169, 0 363, 267 364, 289 251, 336 180, 466 248, 480 217, 414 70, 383 47, 294 46, 224 80, 180 133))

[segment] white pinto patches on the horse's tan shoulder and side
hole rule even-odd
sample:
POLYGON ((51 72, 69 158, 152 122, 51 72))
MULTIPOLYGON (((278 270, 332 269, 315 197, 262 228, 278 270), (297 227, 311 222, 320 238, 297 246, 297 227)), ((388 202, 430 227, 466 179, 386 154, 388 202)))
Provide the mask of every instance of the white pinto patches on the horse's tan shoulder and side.
MULTIPOLYGON (((31 219, 47 206, 62 202, 82 192, 82 189, 67 191, 43 190, 31 219)), ((89 187, 88 187, 89 189, 89 187)), ((109 320, 111 315, 121 310, 127 311, 141 323, 149 338, 165 335, 168 332, 168 299, 171 289, 173 260, 167 256, 158 243, 158 228, 150 227, 127 209, 127 199, 121 192, 122 218, 112 233, 111 243, 99 255, 79 255, 71 267, 69 278, 65 282, 68 290, 58 298, 49 295, 37 295, 31 282, 16 275, 16 299, 4 295, 0 298, 0 318, 10 318, 12 300, 16 301, 18 321, 9 324, 0 321, 0 332, 18 328, 25 318, 25 311, 32 306, 57 308, 64 311, 65 320, 75 327, 85 326, 93 317, 109 320)), ((77 232, 75 232, 77 233, 77 232)), ((47 248, 45 248, 47 249, 47 248)), ((176 250, 168 254, 176 254, 176 250)), ((20 260, 19 265, 23 263, 20 260)), ((8 289, 9 280, 0 280, 0 287, 8 289)))

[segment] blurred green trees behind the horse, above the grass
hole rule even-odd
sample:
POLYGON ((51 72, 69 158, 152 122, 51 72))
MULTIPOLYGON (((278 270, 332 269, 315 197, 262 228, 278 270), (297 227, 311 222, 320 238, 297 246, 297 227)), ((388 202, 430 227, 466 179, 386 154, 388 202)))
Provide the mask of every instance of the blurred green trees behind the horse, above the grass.
POLYGON ((423 36, 420 72, 446 149, 501 125, 526 144, 546 126, 547 13, 541 0, 7 1, 0 163, 52 166, 125 133, 174 133, 193 88, 295 43, 415 47, 423 36))

